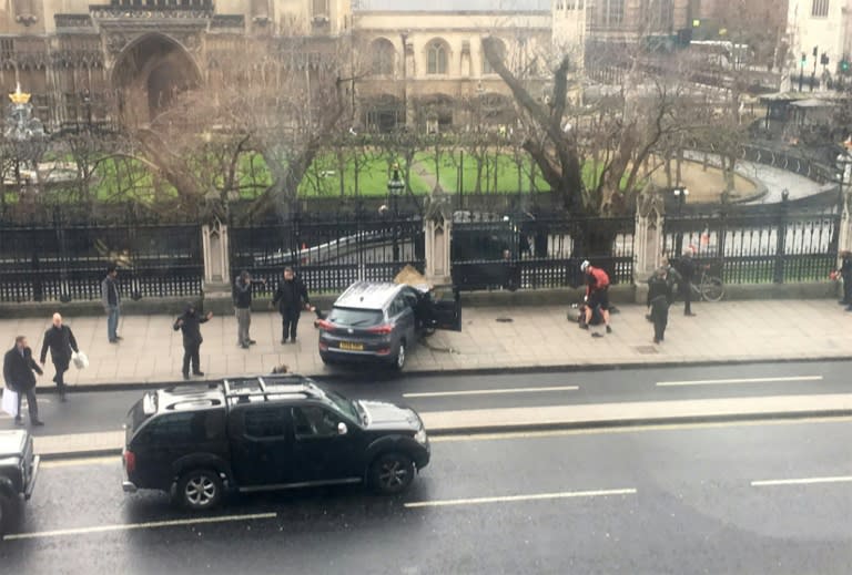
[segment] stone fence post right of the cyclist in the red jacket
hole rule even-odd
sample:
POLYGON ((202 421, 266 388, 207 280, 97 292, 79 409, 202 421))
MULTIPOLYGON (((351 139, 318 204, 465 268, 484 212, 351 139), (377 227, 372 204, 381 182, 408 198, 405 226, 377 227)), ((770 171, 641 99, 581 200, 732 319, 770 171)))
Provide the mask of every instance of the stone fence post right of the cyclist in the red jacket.
POLYGON ((659 194, 641 194, 637 198, 635 229, 633 281, 636 301, 643 304, 648 295, 648 279, 660 265, 665 247, 665 205, 659 194))

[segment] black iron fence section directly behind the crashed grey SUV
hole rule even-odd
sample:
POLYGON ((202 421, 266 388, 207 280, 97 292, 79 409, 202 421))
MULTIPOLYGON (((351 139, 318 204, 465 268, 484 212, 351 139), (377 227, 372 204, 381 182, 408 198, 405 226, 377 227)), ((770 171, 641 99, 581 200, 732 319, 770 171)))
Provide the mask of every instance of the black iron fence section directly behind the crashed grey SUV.
POLYGON ((424 270, 423 219, 412 215, 296 215, 285 223, 232 225, 231 270, 250 270, 271 295, 285 266, 308 290, 339 291, 358 279, 389 281, 406 265, 424 270))

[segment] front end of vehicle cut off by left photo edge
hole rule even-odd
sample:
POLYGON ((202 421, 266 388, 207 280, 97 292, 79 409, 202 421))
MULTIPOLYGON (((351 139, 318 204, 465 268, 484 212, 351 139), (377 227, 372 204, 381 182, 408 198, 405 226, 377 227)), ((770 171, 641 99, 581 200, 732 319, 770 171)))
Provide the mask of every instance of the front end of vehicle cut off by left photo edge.
POLYGON ((26 430, 0 431, 0 535, 14 523, 21 500, 29 500, 39 474, 39 456, 26 430))

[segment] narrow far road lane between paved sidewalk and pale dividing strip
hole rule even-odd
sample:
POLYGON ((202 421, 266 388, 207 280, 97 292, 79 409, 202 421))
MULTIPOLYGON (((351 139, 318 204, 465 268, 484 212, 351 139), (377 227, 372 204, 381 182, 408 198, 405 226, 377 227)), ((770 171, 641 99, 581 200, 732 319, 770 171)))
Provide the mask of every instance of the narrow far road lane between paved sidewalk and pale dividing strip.
MULTIPOLYGON (((845 393, 850 390, 849 373, 852 373, 852 361, 826 361, 537 374, 399 378, 385 376, 378 380, 374 373, 355 372, 345 380, 334 379, 324 384, 354 399, 379 399, 406 403, 418 411, 427 412, 623 401, 845 393), (772 378, 779 379, 753 381, 772 378), (710 383, 689 384, 696 381, 710 381, 710 383), (676 384, 658 384, 667 382, 676 384), (458 394, 470 391, 476 393, 458 394)), ((40 411, 48 424, 34 430, 34 434, 55 435, 120 429, 128 409, 142 397, 142 393, 141 390, 78 392, 71 393, 70 401, 63 404, 57 401, 54 393, 43 393, 40 396, 40 411)), ((0 428, 3 427, 12 427, 12 422, 8 415, 0 413, 0 428)))

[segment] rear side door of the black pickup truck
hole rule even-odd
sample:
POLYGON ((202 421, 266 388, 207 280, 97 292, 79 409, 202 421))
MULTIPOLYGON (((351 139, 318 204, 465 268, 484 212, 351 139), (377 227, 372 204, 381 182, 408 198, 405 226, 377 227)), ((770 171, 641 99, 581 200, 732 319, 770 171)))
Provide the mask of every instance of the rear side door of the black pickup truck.
POLYGON ((286 405, 247 405, 231 413, 231 459, 237 486, 293 480, 293 440, 286 405))

